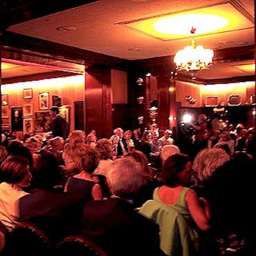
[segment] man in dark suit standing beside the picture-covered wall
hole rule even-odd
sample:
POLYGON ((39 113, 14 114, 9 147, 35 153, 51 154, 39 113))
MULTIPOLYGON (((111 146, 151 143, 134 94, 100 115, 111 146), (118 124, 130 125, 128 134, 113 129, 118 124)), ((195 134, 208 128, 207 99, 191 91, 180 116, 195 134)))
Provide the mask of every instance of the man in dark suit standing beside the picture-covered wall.
POLYGON ((51 108, 52 117, 52 136, 60 136, 66 139, 67 134, 67 121, 60 115, 58 106, 51 108))

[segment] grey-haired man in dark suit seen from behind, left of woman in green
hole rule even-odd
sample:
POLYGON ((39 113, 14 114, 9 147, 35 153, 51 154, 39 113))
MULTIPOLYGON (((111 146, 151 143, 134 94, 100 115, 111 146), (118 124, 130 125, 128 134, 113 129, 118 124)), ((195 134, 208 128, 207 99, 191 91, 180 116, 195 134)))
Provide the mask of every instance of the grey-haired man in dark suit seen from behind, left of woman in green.
POLYGON ((132 205, 132 198, 143 184, 140 164, 131 157, 122 157, 108 169, 113 196, 85 205, 83 234, 111 256, 159 255, 159 228, 132 205))

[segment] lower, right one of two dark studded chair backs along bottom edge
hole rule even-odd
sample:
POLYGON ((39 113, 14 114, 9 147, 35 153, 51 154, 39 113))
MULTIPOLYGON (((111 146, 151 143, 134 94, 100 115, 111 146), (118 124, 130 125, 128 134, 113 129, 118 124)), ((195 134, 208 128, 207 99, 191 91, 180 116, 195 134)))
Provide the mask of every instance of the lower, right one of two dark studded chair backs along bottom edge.
POLYGON ((57 256, 108 256, 98 244, 81 235, 67 236, 56 245, 57 256))

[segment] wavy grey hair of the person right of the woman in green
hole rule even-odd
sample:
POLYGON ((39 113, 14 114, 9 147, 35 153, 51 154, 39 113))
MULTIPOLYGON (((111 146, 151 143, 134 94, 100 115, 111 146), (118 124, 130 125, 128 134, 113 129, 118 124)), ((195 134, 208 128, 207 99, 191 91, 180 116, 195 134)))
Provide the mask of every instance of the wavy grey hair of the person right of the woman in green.
POLYGON ((221 148, 205 148, 196 154, 193 169, 201 181, 208 180, 212 173, 222 164, 230 160, 230 156, 221 148))

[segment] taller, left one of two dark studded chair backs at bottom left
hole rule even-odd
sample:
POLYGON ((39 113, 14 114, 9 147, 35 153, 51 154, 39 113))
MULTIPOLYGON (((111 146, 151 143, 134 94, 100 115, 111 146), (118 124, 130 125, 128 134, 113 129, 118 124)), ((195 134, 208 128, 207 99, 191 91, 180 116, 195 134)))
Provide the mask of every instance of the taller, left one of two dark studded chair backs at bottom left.
POLYGON ((33 222, 23 222, 17 225, 10 236, 12 256, 49 256, 51 241, 42 227, 33 222))

